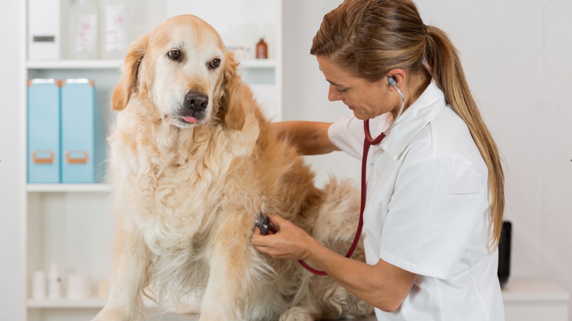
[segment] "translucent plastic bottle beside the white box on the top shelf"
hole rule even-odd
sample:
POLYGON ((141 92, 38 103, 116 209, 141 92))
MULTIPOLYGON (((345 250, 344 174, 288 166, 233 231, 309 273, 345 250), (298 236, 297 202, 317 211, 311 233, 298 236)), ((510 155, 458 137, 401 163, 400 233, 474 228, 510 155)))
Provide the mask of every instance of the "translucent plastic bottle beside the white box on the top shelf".
POLYGON ((98 52, 97 6, 93 0, 77 0, 70 7, 69 57, 95 59, 98 52))

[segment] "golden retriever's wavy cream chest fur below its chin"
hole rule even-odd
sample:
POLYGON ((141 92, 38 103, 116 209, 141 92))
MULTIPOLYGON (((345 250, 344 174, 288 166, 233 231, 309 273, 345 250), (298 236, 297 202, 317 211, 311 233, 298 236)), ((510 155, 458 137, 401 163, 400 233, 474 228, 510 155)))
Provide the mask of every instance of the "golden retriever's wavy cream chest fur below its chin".
POLYGON ((223 125, 180 130, 144 117, 125 110, 109 137, 112 183, 121 195, 114 201, 149 249, 157 294, 201 291, 209 273, 205 247, 221 208, 245 190, 229 182, 252 164, 259 127, 247 117, 240 132, 223 125))

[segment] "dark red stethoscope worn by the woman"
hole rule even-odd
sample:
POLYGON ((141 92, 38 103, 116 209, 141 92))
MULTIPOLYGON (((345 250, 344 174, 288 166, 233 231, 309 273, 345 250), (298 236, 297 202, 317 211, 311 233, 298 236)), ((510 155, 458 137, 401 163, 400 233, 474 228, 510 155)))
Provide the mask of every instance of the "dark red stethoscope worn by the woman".
MULTIPOLYGON (((349 247, 348 252, 345 254, 346 258, 349 258, 350 256, 352 256, 353 251, 358 246, 359 238, 362 235, 363 210, 366 207, 366 194, 367 194, 366 168, 367 168, 368 151, 370 151, 371 145, 378 145, 379 143, 381 143, 383 141, 384 138, 386 138, 386 136, 387 136, 386 133, 389 133, 389 131, 393 128, 393 126, 395 125, 395 122, 401 116, 401 113, 403 113, 403 107, 405 106, 405 98, 403 97, 402 91, 397 86, 397 82, 395 81, 395 78, 393 78, 392 76, 387 77, 387 83, 390 86, 394 86, 395 89, 398 91, 399 95, 401 96, 401 107, 399 109, 399 113, 397 114, 397 117, 395 117, 394 122, 391 124, 391 126, 387 130, 385 130, 383 133, 379 134, 379 136, 376 137, 375 139, 371 137, 370 119, 366 119, 365 121, 363 121, 363 131, 364 131, 365 138, 363 141, 363 155, 362 155, 362 197, 361 197, 361 205, 360 205, 360 210, 359 210, 359 223, 358 223, 358 229, 356 230, 356 235, 353 238, 352 245, 349 247)), ((260 219, 257 219, 255 221, 256 226, 260 229, 260 234, 266 235, 268 231, 271 231, 274 234, 276 234, 276 232, 277 232, 276 228, 271 226, 270 218, 268 217, 268 215, 264 215, 262 212, 260 213, 260 215, 261 215, 260 219)), ((312 272, 313 274, 328 275, 324 271, 316 270, 315 268, 309 266, 308 263, 306 263, 304 260, 298 260, 298 262, 303 267, 305 267, 306 270, 312 272)))

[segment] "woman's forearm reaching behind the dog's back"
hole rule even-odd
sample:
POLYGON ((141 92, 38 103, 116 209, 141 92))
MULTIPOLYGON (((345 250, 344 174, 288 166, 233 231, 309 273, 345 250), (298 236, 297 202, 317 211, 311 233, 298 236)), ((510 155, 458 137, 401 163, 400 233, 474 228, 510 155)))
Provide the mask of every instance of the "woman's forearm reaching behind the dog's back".
POLYGON ((337 149, 329 141, 328 128, 332 123, 291 121, 272 123, 281 137, 287 137, 302 155, 327 154, 337 149))

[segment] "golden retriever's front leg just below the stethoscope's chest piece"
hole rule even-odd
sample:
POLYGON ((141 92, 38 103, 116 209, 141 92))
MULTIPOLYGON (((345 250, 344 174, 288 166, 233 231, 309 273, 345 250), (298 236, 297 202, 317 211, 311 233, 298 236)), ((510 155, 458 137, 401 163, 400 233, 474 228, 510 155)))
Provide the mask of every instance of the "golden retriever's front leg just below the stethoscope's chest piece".
POLYGON ((209 244, 209 279, 200 308, 200 321, 244 320, 245 297, 252 295, 252 221, 244 211, 217 214, 224 222, 209 244))

